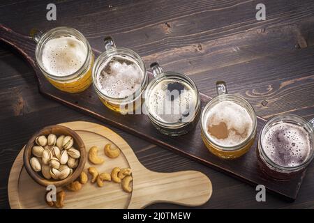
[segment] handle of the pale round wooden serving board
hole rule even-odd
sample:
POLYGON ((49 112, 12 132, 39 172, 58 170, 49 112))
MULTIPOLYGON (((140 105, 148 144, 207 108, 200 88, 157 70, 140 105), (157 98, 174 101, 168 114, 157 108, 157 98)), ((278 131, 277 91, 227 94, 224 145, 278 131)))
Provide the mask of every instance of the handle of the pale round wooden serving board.
MULTIPOLYGON (((147 173, 135 176, 141 187, 135 187, 128 208, 144 208, 153 203, 176 203, 183 206, 201 206, 211 197, 211 180, 199 171, 174 173, 147 173)), ((133 182, 133 185, 138 185, 133 182)))

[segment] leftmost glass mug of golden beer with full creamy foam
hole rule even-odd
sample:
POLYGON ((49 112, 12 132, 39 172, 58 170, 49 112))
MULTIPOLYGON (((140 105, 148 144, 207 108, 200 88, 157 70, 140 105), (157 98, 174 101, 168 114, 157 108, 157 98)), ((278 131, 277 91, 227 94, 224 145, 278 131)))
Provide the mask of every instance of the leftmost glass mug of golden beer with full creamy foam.
POLYGON ((57 89, 79 93, 91 85, 94 54, 82 33, 57 27, 42 33, 33 30, 36 61, 45 78, 57 89))

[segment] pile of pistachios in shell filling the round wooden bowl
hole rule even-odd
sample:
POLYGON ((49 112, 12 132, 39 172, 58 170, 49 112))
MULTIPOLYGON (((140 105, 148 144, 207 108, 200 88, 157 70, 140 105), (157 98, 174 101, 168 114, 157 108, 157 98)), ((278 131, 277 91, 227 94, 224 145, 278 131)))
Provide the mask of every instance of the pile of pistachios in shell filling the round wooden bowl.
POLYGON ((73 174, 80 158, 80 151, 73 148, 73 137, 40 135, 35 143, 36 146, 31 149, 33 157, 29 161, 33 171, 41 171, 47 180, 63 180, 73 174))

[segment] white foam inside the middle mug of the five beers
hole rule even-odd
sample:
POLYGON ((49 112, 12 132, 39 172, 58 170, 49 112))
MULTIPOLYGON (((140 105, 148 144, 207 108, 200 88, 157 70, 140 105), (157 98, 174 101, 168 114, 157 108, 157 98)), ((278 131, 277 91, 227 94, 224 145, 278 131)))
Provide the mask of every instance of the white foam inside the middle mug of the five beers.
MULTIPOLYGON (((179 91, 168 91, 168 84, 173 84, 173 80, 163 80, 154 86, 154 89, 151 89, 149 94, 149 110, 151 114, 159 121, 165 123, 177 123, 179 120, 183 119, 182 113, 189 112, 189 116, 192 116, 195 112, 196 105, 196 95, 195 91, 186 83, 179 82, 184 86, 184 90, 179 93, 179 91), (174 100, 169 100, 168 93, 174 95, 174 100), (181 118, 181 119, 180 119, 181 118)), ((188 119, 187 118, 187 119, 188 119)))

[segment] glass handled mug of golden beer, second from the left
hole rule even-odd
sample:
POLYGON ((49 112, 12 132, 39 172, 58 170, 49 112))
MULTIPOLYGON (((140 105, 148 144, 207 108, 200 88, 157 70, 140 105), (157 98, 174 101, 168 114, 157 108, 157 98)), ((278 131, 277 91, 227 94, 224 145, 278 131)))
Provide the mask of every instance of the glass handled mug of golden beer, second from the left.
POLYGON ((131 49, 116 47, 106 37, 105 52, 95 61, 93 84, 101 102, 115 112, 133 114, 142 105, 148 77, 142 58, 131 49))

